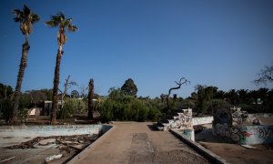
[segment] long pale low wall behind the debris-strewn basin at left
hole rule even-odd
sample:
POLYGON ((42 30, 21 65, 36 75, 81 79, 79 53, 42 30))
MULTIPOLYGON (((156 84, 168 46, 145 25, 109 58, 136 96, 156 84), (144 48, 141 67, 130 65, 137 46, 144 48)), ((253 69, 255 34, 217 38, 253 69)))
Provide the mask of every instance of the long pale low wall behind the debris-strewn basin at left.
POLYGON ((83 134, 105 133, 111 126, 107 125, 59 125, 59 126, 2 126, 0 138, 7 137, 49 137, 72 136, 83 134))

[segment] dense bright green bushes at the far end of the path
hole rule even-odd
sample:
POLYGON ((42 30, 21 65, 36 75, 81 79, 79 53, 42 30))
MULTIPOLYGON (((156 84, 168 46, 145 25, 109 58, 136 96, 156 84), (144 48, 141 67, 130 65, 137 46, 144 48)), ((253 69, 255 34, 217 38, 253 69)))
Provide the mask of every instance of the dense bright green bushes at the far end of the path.
MULTIPOLYGON (((160 102, 160 101, 159 101, 160 102)), ((160 105, 150 99, 127 95, 120 88, 111 88, 109 97, 99 108, 102 121, 109 120, 154 120, 161 117, 160 105)))

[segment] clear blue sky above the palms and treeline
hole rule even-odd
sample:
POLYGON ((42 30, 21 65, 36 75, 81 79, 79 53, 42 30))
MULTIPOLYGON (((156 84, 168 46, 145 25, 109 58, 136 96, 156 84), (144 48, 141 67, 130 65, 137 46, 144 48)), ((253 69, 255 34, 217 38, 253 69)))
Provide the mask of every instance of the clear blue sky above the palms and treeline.
POLYGON ((30 36, 23 91, 53 87, 57 28, 45 21, 58 11, 79 28, 67 32, 60 87, 70 75, 81 87, 94 78, 100 95, 129 77, 143 97, 167 93, 179 77, 191 81, 177 91, 180 97, 188 97, 197 84, 257 89, 251 81, 273 61, 271 0, 4 0, 0 83, 12 87, 25 42, 12 9, 24 4, 41 21, 30 36))

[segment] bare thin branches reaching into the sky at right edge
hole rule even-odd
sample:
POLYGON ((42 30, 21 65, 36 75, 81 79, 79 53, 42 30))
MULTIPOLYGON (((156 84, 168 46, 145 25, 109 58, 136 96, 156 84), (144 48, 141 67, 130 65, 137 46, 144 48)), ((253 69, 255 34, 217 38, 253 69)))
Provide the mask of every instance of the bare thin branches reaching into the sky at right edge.
POLYGON ((268 83, 273 82, 273 62, 271 66, 266 66, 258 73, 258 78, 254 80, 254 83, 259 86, 261 84, 267 86, 268 83))

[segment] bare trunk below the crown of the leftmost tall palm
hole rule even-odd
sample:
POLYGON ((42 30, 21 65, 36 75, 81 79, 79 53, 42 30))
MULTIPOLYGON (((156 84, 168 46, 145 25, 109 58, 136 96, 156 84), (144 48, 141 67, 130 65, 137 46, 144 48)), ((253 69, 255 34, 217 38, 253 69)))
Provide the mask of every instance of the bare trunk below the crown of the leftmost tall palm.
MULTIPOLYGON (((25 36, 25 38, 26 37, 28 38, 28 36, 25 36)), ((25 41, 28 41, 28 39, 25 41)), ((24 73, 25 73, 25 67, 27 64, 27 52, 28 52, 29 48, 30 48, 30 46, 28 45, 28 42, 25 42, 25 44, 23 45, 22 57, 21 57, 16 87, 15 87, 14 106, 13 106, 13 110, 11 111, 11 114, 9 115, 9 122, 11 122, 11 123, 15 123, 17 120, 18 108, 19 108, 19 98, 20 98, 20 94, 21 94, 21 87, 22 87, 23 77, 24 77, 24 73)))

